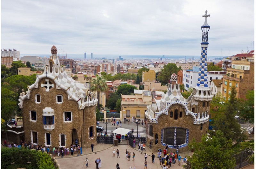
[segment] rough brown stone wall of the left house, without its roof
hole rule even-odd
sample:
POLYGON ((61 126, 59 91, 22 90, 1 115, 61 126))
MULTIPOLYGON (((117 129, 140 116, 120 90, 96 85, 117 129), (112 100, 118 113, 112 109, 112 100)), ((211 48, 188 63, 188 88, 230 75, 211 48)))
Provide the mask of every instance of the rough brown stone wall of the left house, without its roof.
MULTIPOLYGON (((46 88, 41 88, 41 83, 44 84, 45 80, 42 79, 38 83, 38 88, 34 89, 30 92, 30 98, 24 100, 22 114, 23 114, 23 127, 25 131, 25 141, 31 142, 31 131, 37 132, 38 144, 45 145, 45 133, 51 134, 51 146, 59 147, 60 146, 60 134, 66 135, 65 145, 70 146, 72 143, 72 131, 76 129, 78 143, 82 143, 82 135, 83 135, 83 112, 91 113, 87 109, 91 107, 85 107, 84 110, 78 109, 78 104, 74 100, 68 100, 67 93, 62 89, 56 89, 56 84, 49 80, 54 87, 50 89, 49 92, 45 92, 46 88), (37 104, 35 102, 35 95, 40 94, 41 103, 37 104), (61 94, 63 103, 57 104, 56 95, 61 94), (53 130, 45 130, 43 125, 43 109, 45 107, 51 107, 54 110, 54 125, 55 128, 53 130), (36 111, 36 122, 30 121, 29 111, 36 111), (72 121, 64 122, 64 112, 70 111, 72 112, 72 121)), ((93 107, 92 107, 93 108, 93 107)), ((93 113, 94 115, 94 113, 93 113)), ((86 117, 86 116, 85 116, 86 117)), ((96 129, 96 119, 90 117, 92 121, 94 121, 95 129, 96 129)), ((85 123, 86 126, 86 123, 85 123)), ((73 143, 76 138, 73 138, 73 143)), ((96 139, 94 139, 94 144, 96 143, 96 139)))

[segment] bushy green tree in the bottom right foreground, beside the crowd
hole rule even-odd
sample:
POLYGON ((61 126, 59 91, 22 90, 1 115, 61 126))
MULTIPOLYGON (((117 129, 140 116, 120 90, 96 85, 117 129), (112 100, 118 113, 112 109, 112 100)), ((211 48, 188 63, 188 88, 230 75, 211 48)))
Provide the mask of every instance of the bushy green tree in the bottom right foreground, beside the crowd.
POLYGON ((202 137, 202 142, 197 143, 192 157, 188 158, 193 169, 202 169, 205 166, 215 169, 230 169, 236 163, 232 158, 232 141, 224 137, 221 131, 209 138, 202 137))

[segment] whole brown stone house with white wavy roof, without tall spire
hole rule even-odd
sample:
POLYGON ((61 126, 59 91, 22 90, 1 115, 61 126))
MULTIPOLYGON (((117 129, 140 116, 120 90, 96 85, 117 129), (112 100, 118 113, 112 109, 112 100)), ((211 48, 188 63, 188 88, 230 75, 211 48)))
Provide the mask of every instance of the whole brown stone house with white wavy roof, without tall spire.
POLYGON ((20 93, 25 141, 64 147, 78 139, 80 146, 90 147, 96 144, 96 95, 61 67, 55 46, 51 53, 44 74, 36 76, 28 92, 20 93))

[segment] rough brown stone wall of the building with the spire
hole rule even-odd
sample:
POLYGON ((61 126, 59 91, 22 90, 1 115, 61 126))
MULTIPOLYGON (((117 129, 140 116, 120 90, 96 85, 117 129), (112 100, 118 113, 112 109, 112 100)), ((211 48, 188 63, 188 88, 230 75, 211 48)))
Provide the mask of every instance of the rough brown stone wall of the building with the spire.
MULTIPOLYGON (((197 142, 201 141, 202 135, 204 135, 208 131, 209 122, 204 123, 202 130, 200 130, 200 124, 193 124, 194 119, 192 118, 192 116, 186 115, 185 113, 186 113, 185 109, 181 105, 173 105, 172 107, 169 108, 168 115, 164 114, 158 118, 158 124, 150 123, 153 126, 154 139, 156 134, 158 134, 158 143, 155 144, 155 140, 152 140, 152 145, 153 145, 152 151, 154 152, 157 151, 159 147, 161 147, 161 149, 163 150, 164 145, 161 144, 161 130, 167 127, 182 127, 182 128, 189 129, 188 143, 192 141, 193 137, 196 139, 197 142), (177 120, 174 120, 175 109, 177 109, 179 113, 180 111, 182 112, 182 117, 180 118, 180 116, 178 116, 177 120), (170 117, 171 111, 173 112, 172 118, 170 117)), ((149 142, 150 142, 150 139, 147 138, 147 146, 149 142)), ((169 150, 171 149, 168 148, 168 152, 169 150)), ((180 148, 181 152, 188 151, 188 150, 189 150, 188 146, 184 148, 180 148)), ((176 150, 172 149, 172 151, 176 151, 176 150)))

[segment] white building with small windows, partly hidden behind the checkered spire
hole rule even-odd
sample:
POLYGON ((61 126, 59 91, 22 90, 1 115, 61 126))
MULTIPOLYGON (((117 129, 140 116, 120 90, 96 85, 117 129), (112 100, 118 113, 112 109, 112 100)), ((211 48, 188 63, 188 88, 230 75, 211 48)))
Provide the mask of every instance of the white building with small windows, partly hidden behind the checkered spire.
MULTIPOLYGON (((183 70, 183 84, 185 89, 196 87, 197 78, 198 78, 199 66, 193 66, 192 70, 183 70)), ((226 75, 227 72, 218 72, 218 71, 208 71, 207 78, 208 80, 221 79, 223 75, 226 75)))

